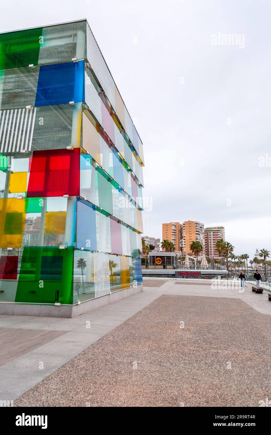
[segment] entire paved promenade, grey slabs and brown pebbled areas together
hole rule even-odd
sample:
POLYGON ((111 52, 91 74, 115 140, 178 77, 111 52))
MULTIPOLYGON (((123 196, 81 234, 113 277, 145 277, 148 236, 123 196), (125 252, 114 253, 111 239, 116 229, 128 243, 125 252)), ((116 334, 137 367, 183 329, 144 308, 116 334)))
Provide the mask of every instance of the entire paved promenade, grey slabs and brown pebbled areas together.
POLYGON ((0 316, 0 399, 258 406, 269 397, 267 293, 252 293, 250 284, 240 293, 206 281, 161 281, 146 279, 144 292, 73 319, 0 316), (10 348, 14 340, 18 347, 10 348))

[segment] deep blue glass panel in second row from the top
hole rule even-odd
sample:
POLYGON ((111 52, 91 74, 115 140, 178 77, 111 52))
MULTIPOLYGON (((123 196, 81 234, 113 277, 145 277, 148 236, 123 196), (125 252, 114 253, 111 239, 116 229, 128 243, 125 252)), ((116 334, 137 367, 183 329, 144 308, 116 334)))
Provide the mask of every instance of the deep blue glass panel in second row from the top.
POLYGON ((40 67, 35 106, 84 100, 84 61, 40 67))

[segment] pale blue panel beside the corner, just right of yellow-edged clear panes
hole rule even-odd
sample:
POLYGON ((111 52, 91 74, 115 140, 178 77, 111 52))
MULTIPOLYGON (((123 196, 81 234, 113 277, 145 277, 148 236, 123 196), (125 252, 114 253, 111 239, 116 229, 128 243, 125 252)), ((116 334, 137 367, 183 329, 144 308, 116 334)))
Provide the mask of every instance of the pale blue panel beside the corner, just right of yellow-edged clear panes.
POLYGON ((97 250, 95 206, 81 199, 77 201, 76 247, 97 250))

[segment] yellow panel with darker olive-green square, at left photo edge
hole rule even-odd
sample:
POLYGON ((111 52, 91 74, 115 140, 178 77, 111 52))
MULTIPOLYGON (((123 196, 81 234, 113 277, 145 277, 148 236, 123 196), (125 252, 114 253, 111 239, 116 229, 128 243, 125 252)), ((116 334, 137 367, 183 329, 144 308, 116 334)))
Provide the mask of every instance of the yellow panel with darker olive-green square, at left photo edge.
POLYGON ((20 248, 26 212, 25 199, 0 199, 0 248, 20 248))

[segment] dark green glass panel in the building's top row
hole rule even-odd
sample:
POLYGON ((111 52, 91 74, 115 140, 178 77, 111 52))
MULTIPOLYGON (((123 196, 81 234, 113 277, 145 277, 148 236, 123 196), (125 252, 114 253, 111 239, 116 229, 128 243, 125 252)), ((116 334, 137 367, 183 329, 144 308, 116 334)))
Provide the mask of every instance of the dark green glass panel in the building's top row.
POLYGON ((0 70, 37 65, 42 28, 0 34, 0 70))

